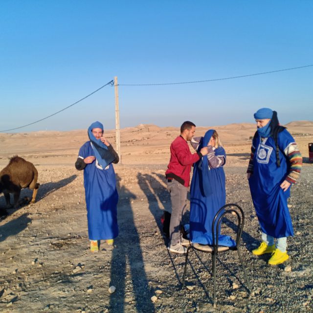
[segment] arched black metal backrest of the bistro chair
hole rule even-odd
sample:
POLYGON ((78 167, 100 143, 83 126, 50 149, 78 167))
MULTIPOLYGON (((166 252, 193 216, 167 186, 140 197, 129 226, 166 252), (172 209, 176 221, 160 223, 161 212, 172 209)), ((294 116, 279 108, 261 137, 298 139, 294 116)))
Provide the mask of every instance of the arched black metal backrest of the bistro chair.
POLYGON ((245 224, 245 214, 243 209, 236 203, 228 203, 225 204, 224 206, 222 206, 219 211, 215 214, 215 217, 213 219, 213 223, 212 223, 212 240, 213 240, 213 247, 214 247, 214 251, 217 251, 218 246, 219 246, 219 228, 220 228, 220 224, 222 222, 223 217, 226 214, 231 214, 232 212, 234 212, 237 216, 238 219, 238 227, 237 227, 237 237, 236 237, 236 248, 238 248, 239 244, 240 244, 240 239, 241 239, 241 235, 244 229, 244 224, 245 224), (230 207, 230 208, 228 208, 230 207), (231 207, 236 207, 237 209, 231 208, 231 207), (228 209, 227 209, 228 208, 228 209), (221 214, 221 212, 225 210, 225 212, 223 214, 221 214), (214 229, 214 225, 215 222, 216 223, 216 227, 214 229), (217 236, 215 236, 215 234, 217 234, 217 236))

